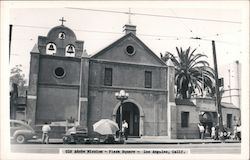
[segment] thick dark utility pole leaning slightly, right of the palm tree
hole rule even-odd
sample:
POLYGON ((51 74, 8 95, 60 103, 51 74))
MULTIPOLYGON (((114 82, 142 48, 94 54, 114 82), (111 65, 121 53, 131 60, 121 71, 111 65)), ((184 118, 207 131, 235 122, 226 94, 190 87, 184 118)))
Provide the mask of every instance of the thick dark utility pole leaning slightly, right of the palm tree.
POLYGON ((216 107, 218 109, 218 117, 219 117, 219 128, 220 132, 223 132, 223 120, 222 120, 222 112, 220 105, 220 91, 219 91, 219 79, 218 79, 218 69, 217 69, 217 58, 216 58, 216 50, 215 50, 215 42, 212 40, 213 47, 213 59, 214 59, 214 70, 215 70, 215 91, 216 91, 216 107))

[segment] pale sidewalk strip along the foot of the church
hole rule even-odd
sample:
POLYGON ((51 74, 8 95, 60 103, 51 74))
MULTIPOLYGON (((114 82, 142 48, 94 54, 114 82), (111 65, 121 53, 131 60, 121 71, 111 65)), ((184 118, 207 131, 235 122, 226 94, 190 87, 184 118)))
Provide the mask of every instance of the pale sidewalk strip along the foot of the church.
MULTIPOLYGON (((32 140, 33 143, 41 143, 41 139, 32 140)), ((62 139, 50 139, 50 144, 62 144, 62 139)), ((128 138, 125 144, 207 144, 222 143, 221 140, 213 139, 166 139, 166 138, 128 138)), ((238 140, 226 139, 224 143, 240 143, 238 140)))

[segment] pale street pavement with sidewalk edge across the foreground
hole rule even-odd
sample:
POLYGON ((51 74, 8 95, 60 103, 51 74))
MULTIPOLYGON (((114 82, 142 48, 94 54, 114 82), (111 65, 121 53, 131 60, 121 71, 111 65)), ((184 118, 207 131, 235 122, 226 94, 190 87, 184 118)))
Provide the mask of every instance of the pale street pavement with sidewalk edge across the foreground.
POLYGON ((166 138, 129 138, 125 144, 63 144, 62 139, 50 139, 50 144, 41 144, 41 139, 28 144, 12 144, 13 153, 60 153, 62 149, 184 149, 191 154, 240 154, 241 143, 236 140, 224 142, 211 139, 166 139, 166 138))

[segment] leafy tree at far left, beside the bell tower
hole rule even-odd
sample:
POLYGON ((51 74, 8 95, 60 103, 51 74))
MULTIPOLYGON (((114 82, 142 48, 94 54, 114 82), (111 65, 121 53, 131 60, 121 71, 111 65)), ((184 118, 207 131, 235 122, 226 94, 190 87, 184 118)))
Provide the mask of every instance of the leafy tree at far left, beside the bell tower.
POLYGON ((21 68, 22 68, 22 65, 19 64, 11 69, 10 84, 13 84, 13 83, 17 84, 18 95, 24 96, 28 87, 26 86, 27 80, 25 79, 25 75, 21 68))

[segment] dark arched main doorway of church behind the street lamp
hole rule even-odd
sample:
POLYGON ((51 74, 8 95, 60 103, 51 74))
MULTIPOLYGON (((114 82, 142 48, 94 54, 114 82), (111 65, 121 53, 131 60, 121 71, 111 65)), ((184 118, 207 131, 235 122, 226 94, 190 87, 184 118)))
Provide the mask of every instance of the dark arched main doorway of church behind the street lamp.
MULTIPOLYGON (((129 127, 129 136, 139 136, 140 112, 138 107, 132 102, 125 102, 122 106, 122 119, 126 120, 129 127)), ((120 107, 116 112, 116 122, 120 127, 120 107)))

